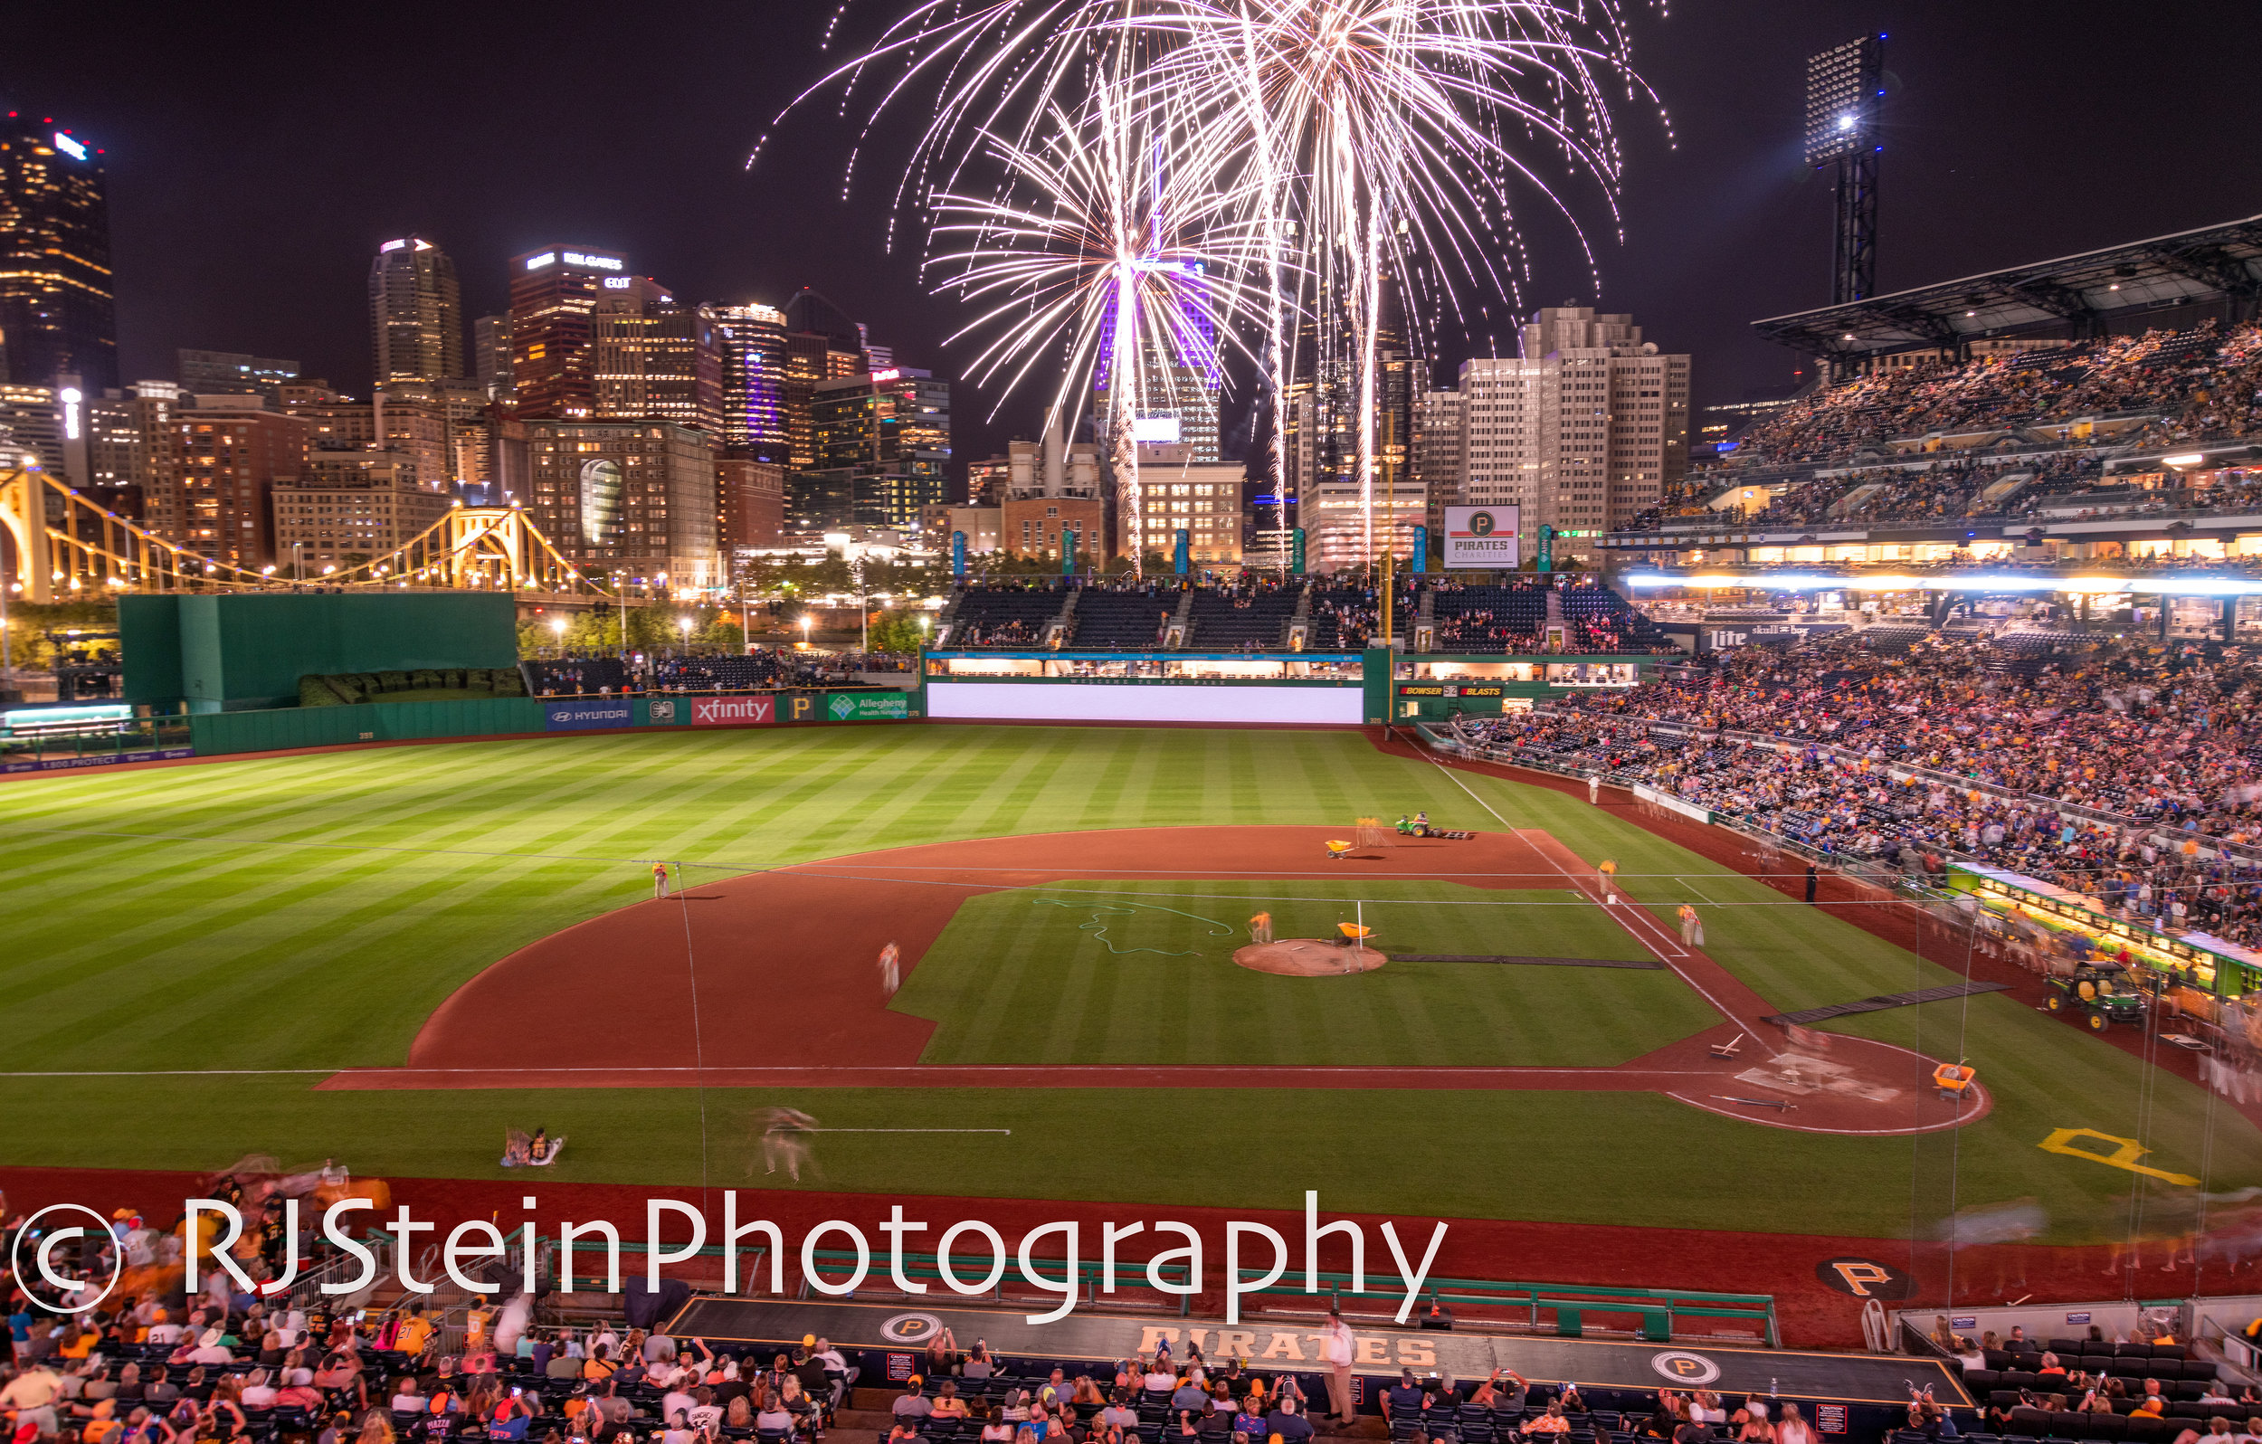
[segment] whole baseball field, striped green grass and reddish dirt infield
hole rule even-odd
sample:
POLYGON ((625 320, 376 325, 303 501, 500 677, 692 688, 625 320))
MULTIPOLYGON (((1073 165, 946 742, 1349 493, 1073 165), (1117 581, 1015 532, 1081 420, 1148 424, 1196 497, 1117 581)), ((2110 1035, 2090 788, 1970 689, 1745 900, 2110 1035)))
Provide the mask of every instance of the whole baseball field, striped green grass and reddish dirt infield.
POLYGON ((1240 1209, 1319 1186, 1359 1213, 1850 1238, 2031 1200, 2043 1243, 2099 1243, 2167 1206, 2165 1175, 2262 1184, 2246 1111, 2015 989, 1828 1023, 1882 1098, 1760 1107, 1794 1098, 1737 1082, 1780 1037, 1767 1014, 1961 973, 1622 803, 1364 733, 1224 729, 11 779, 0 1168, 265 1152, 498 1179, 504 1127, 541 1123, 570 1136, 545 1184, 744 1184, 751 1118, 789 1105, 880 1132, 819 1136, 812 1175, 765 1186, 1240 1209), (1414 810, 1477 835, 1328 858, 1357 817, 1414 810), (676 896, 651 899, 654 862, 676 896), (1393 962, 1235 966, 1255 912, 1280 937, 1371 926, 1393 962), (1932 1059, 1977 1066, 1963 1118, 1918 1086, 1932 1059), (2061 1129, 2108 1143, 2043 1148, 2061 1129), (2110 1141, 2149 1172, 2101 1161, 2110 1141))

